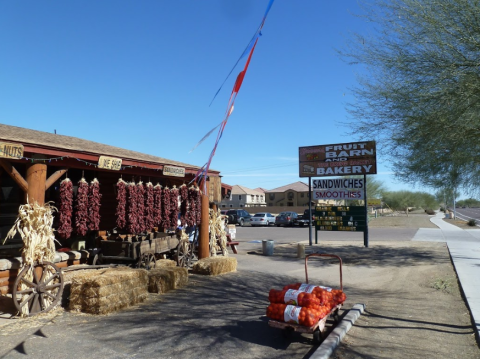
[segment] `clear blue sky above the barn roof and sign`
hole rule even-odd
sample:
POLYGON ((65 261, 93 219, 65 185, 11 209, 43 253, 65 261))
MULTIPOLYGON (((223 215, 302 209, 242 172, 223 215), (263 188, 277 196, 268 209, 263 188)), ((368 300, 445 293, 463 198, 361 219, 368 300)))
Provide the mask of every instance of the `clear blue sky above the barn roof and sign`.
MULTIPOLYGON (((244 61, 210 101, 268 0, 0 2, 0 122, 202 166, 244 61)), ((299 180, 298 147, 354 142, 355 71, 336 54, 364 23, 355 0, 276 0, 211 168, 273 189, 299 180)), ((381 158, 380 158, 381 160, 381 158)), ((395 183, 381 161, 377 179, 395 183)), ((416 190, 423 190, 417 188, 416 190)))

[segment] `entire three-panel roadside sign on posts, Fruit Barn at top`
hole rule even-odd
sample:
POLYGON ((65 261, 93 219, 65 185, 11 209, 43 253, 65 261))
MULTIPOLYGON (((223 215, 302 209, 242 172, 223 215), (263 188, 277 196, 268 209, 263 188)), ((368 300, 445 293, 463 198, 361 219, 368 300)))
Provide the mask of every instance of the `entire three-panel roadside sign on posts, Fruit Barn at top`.
MULTIPOLYGON (((318 231, 363 232, 368 247, 367 174, 377 173, 375 141, 299 147, 299 176, 308 177, 309 208, 314 200, 363 200, 363 206, 316 206, 315 243, 318 231), (361 176, 316 179, 312 177, 361 176)), ((346 202, 344 202, 346 203, 346 202)), ((309 243, 312 244, 311 227, 309 243)))

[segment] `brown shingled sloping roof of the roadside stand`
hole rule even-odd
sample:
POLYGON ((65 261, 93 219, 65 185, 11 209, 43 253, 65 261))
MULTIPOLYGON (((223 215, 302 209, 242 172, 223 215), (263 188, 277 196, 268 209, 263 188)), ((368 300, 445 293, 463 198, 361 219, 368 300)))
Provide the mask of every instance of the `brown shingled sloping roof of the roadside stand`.
MULTIPOLYGON (((120 147, 84 140, 78 137, 58 135, 27 128, 0 124, 0 141, 24 145, 25 151, 42 153, 42 149, 60 149, 74 154, 111 156, 122 160, 140 161, 161 165, 172 165, 198 170, 198 166, 168 160, 166 158, 131 151, 120 147), (36 150, 38 149, 38 150, 36 150)), ((212 172, 218 172, 211 170, 212 172)))

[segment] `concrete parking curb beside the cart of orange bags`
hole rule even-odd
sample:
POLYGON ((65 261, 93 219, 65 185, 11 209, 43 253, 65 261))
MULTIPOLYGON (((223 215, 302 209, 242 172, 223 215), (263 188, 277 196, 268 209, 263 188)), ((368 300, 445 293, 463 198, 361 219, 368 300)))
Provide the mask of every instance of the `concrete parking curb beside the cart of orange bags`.
POLYGON ((365 304, 357 303, 350 309, 347 315, 342 319, 330 335, 315 350, 310 359, 328 359, 342 341, 343 337, 352 327, 353 323, 360 317, 365 310, 365 304))

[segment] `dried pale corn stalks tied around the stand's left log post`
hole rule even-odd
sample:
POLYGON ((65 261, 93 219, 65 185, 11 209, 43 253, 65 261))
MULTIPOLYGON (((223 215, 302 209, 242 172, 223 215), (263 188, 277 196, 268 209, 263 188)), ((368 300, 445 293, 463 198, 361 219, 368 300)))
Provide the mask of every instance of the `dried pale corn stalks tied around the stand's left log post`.
MULTIPOLYGON (((17 232, 20 233, 23 240, 23 265, 30 268, 25 274, 25 279, 29 281, 33 281, 33 264, 35 262, 53 262, 55 257, 55 235, 52 225, 53 213, 57 209, 51 203, 48 202, 41 206, 37 202, 33 202, 20 206, 17 219, 5 238, 5 240, 13 238, 17 232)), ((22 283, 20 290, 26 289, 27 286, 22 283)), ((23 295, 22 301, 27 297, 27 294, 23 295)), ((49 296, 43 296, 43 300, 44 308, 50 306, 53 301, 49 296)), ((20 314, 23 316, 29 314, 28 305, 22 307, 20 314)))

